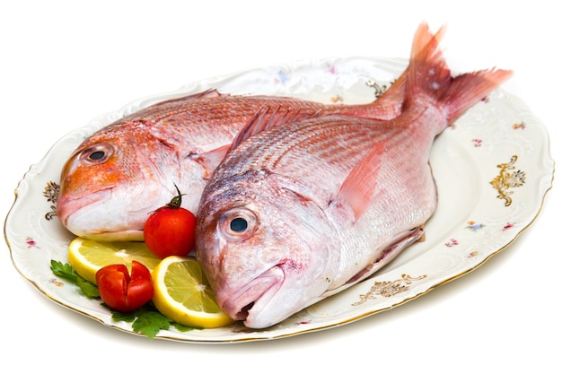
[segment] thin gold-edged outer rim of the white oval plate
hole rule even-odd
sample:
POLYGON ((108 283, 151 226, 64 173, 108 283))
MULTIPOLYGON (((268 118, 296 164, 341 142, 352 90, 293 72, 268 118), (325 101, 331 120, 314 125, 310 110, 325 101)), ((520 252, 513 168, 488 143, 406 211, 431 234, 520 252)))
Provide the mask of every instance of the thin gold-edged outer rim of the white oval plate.
MULTIPOLYGON (((63 302, 63 300, 58 300, 57 296, 48 292, 48 290, 43 285, 41 285, 37 280, 31 279, 30 276, 28 276, 27 274, 24 274, 24 272, 22 271, 22 268, 20 268, 20 266, 17 264, 16 260, 14 259, 13 246, 15 246, 15 244, 12 242, 13 238, 12 238, 12 233, 10 232, 9 223, 13 220, 14 214, 16 213, 20 204, 22 204, 23 197, 25 196, 25 194, 27 192, 29 192, 30 179, 34 175, 33 173, 36 170, 39 172, 41 169, 44 169, 48 164, 49 158, 52 157, 54 155, 55 151, 58 149, 58 147, 61 146, 61 144, 63 144, 69 138, 71 138, 73 136, 78 136, 78 135, 83 134, 83 133, 92 133, 93 131, 100 128, 101 126, 104 126, 103 119, 115 118, 113 120, 117 120, 117 119, 119 119, 119 117, 123 117, 123 116, 126 116, 127 114, 129 114, 129 111, 131 111, 131 110, 136 111, 138 109, 144 108, 145 106, 149 105, 152 102, 165 100, 167 98, 179 97, 179 96, 185 95, 186 93, 189 93, 189 92, 202 91, 202 88, 205 88, 206 86, 221 85, 220 83, 230 82, 233 79, 236 79, 237 77, 239 77, 241 74, 248 74, 249 72, 265 71, 265 70, 271 71, 270 69, 275 69, 275 68, 285 69, 286 71, 293 71, 295 69, 299 69, 299 68, 303 68, 303 67, 307 67, 307 66, 308 67, 318 67, 319 65, 336 64, 338 61, 350 61, 350 60, 354 60, 354 59, 370 60, 370 61, 374 61, 374 62, 377 62, 377 63, 382 63, 382 65, 384 65, 384 64, 388 64, 388 65, 394 64, 396 66, 397 71, 400 70, 400 66, 405 66, 406 63, 407 63, 407 60, 404 60, 402 58, 329 57, 329 58, 321 58, 321 59, 315 59, 315 60, 310 60, 310 61, 306 61, 306 60, 297 61, 297 62, 283 64, 283 65, 262 65, 262 66, 259 66, 259 67, 245 69, 243 71, 239 71, 239 72, 233 73, 233 74, 216 75, 214 77, 210 77, 210 78, 206 78, 206 79, 202 79, 202 80, 199 80, 199 81, 196 81, 196 82, 192 82, 192 83, 182 85, 178 90, 175 90, 175 91, 169 91, 169 92, 163 92, 163 93, 159 93, 159 94, 149 95, 149 96, 145 96, 143 98, 139 98, 139 99, 136 99, 136 100, 129 101, 126 105, 124 105, 120 109, 114 110, 114 111, 109 111, 109 112, 106 112, 104 114, 101 114, 100 116, 92 119, 92 121, 90 121, 88 124, 86 124, 84 126, 80 126, 78 128, 75 128, 74 130, 70 131, 66 135, 63 135, 55 144, 50 146, 48 151, 45 153, 45 155, 43 156, 43 158, 39 162, 31 164, 29 170, 24 173, 23 178, 19 181, 17 187, 14 190, 13 204, 12 204, 9 212, 7 213, 7 215, 4 219, 4 240, 5 240, 5 242, 7 244, 7 247, 10 251, 10 257, 11 257, 11 261, 13 263, 13 266, 22 275, 22 277, 24 279, 26 279, 27 281, 29 281, 31 284, 33 284, 33 286, 37 290, 39 290, 40 293, 42 293, 44 296, 46 296, 49 300, 53 300, 58 305, 63 306, 66 309, 73 310, 73 311, 75 311, 79 314, 82 314, 83 316, 91 317, 92 319, 100 322, 102 325, 117 328, 117 329, 119 329, 123 332, 127 332, 129 334, 141 335, 141 334, 135 333, 134 331, 132 331, 130 329, 127 329, 123 326, 119 326, 119 324, 111 324, 107 320, 104 320, 102 317, 94 316, 92 314, 89 314, 89 313, 81 310, 81 309, 75 308, 72 305, 68 305, 65 302, 63 302)), ((219 88, 219 90, 221 90, 221 89, 219 88)), ((294 329, 292 331, 290 329, 288 329, 287 332, 285 332, 284 334, 280 334, 280 335, 274 334, 274 335, 262 335, 262 336, 248 336, 246 338, 241 338, 241 339, 234 338, 235 335, 233 335, 233 339, 206 340, 206 339, 198 339, 197 337, 193 337, 193 336, 184 339, 184 338, 178 337, 178 336, 173 335, 173 334, 169 335, 165 331, 162 331, 161 334, 156 335, 154 337, 154 339, 164 339, 164 340, 178 341, 178 342, 183 342, 183 343, 201 343, 201 344, 244 343, 244 342, 250 342, 250 341, 260 341, 260 340, 271 340, 271 339, 277 339, 277 338, 285 338, 285 337, 290 337, 290 336, 295 336, 295 335, 312 333, 312 332, 315 332, 315 331, 321 331, 321 330, 325 330, 325 329, 329 329, 329 328, 334 328, 334 327, 337 327, 337 326, 347 325, 349 323, 355 322, 355 321, 363 319, 365 317, 373 316, 374 314, 380 313, 382 311, 387 311, 387 310, 399 307, 400 305, 405 304, 409 300, 415 300, 418 297, 421 297, 421 296, 425 295, 429 291, 435 290, 436 288, 440 287, 441 285, 443 285, 445 283, 450 283, 453 280, 458 279, 465 274, 469 274, 470 272, 474 271, 475 269, 477 269, 480 266, 487 263, 487 261, 491 257, 494 257, 496 254, 505 250, 505 248, 508 248, 509 246, 511 246, 514 243, 514 241, 516 239, 518 239, 525 230, 527 230, 529 227, 531 227, 531 224, 534 223, 537 220, 537 218, 539 217, 540 211, 542 210, 542 207, 545 204, 546 196, 548 195, 550 189, 552 188, 552 182, 553 182, 554 171, 555 171, 555 163, 554 163, 554 160, 552 159, 552 156, 551 156, 551 153, 550 153, 550 139, 549 139, 549 135, 546 131, 546 127, 544 126, 544 124, 542 124, 542 122, 540 122, 539 118, 534 117, 532 115, 531 110, 528 109, 528 107, 526 106, 526 104, 524 104, 524 102, 522 100, 520 100, 519 98, 515 97, 514 95, 512 95, 510 93, 507 93, 507 92, 503 91, 502 89, 498 89, 498 91, 501 91, 502 94, 505 95, 505 97, 509 98, 510 100, 518 100, 519 104, 522 105, 524 109, 527 109, 528 112, 529 112, 529 115, 532 116, 536 120, 536 125, 540 127, 540 130, 544 133, 544 136, 546 137, 546 140, 547 140, 547 142, 546 142, 547 144, 543 144, 543 146, 546 148, 545 151, 544 151, 544 154, 546 155, 546 157, 541 160, 543 162, 542 166, 546 169, 546 171, 545 171, 545 174, 542 176, 542 178, 545 178, 545 181, 544 181, 545 186, 541 185, 541 188, 543 190, 539 191, 540 202, 538 202, 538 204, 535 206, 535 208, 533 210, 534 213, 531 213, 531 217, 530 217, 529 222, 526 222, 526 224, 524 224, 522 227, 518 228, 517 231, 514 233, 514 237, 511 240, 509 240, 507 243, 503 244, 499 248, 495 248, 494 250, 490 251, 486 257, 484 257, 482 260, 480 260, 479 262, 472 265, 470 268, 465 269, 461 273, 452 274, 451 276, 447 277, 446 279, 443 279, 442 281, 440 281, 438 283, 434 283, 434 284, 430 285, 424 291, 418 291, 417 293, 413 294, 412 296, 409 296, 407 298, 399 299, 397 302, 395 302, 395 303, 393 303, 389 306, 386 306, 384 308, 373 309, 373 310, 366 311, 366 312, 364 312, 360 315, 357 315, 355 317, 348 317, 346 320, 335 320, 331 324, 323 324, 321 326, 312 327, 310 329, 302 328, 302 329, 294 329)), ((366 281, 369 281, 369 279, 367 279, 366 281)), ((366 282, 366 281, 364 281, 364 282, 366 282)), ((110 311, 109 310, 108 310, 108 314, 109 314, 109 317, 110 317, 110 311)))

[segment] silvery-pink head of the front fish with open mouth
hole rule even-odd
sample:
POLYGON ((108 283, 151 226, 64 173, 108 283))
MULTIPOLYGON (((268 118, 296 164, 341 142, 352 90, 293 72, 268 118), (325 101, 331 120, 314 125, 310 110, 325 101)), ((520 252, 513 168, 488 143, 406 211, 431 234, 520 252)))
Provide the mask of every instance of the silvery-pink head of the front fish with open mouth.
POLYGON ((196 255, 217 303, 251 328, 277 324, 329 287, 329 225, 279 179, 225 178, 198 212, 196 255))

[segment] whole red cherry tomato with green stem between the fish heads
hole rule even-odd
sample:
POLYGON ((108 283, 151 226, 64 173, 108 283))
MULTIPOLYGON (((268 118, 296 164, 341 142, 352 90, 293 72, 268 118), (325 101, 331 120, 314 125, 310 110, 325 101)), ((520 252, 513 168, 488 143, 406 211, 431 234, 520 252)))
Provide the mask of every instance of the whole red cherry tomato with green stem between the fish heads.
POLYGON ((181 193, 169 204, 155 210, 145 222, 145 243, 155 256, 188 256, 195 247, 196 217, 180 207, 181 193))

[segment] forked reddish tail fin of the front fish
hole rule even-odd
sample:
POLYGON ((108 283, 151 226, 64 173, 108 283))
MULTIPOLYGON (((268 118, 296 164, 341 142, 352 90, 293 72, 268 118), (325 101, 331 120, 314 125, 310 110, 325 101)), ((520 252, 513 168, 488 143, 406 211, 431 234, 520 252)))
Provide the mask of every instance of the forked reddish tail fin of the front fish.
POLYGON ((439 49, 443 28, 432 36, 424 22, 412 44, 405 105, 418 95, 427 95, 447 112, 447 124, 461 117, 490 91, 504 83, 513 73, 507 70, 481 70, 453 77, 439 49))

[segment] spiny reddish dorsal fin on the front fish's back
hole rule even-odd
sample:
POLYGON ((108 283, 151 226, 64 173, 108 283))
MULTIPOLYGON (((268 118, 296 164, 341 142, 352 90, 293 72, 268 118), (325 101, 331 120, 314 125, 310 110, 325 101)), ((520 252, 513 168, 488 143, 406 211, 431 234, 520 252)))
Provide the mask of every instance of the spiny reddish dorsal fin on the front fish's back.
POLYGON ((262 131, 268 130, 275 126, 283 126, 285 124, 302 120, 305 118, 317 117, 321 114, 321 110, 304 111, 300 108, 292 107, 272 107, 263 105, 248 123, 243 126, 233 140, 231 150, 240 145, 243 141, 252 135, 257 135, 262 131))

